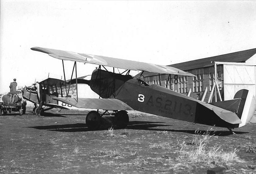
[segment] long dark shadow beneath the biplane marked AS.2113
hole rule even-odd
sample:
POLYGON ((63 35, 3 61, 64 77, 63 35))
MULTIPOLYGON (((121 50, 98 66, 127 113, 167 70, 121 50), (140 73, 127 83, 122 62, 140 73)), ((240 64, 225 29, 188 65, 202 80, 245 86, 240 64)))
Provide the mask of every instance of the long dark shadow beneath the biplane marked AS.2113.
MULTIPOLYGON (((154 131, 168 131, 168 132, 182 132, 188 134, 197 134, 204 135, 207 134, 207 130, 183 130, 183 129, 156 129, 154 127, 164 127, 164 126, 173 126, 173 125, 163 125, 158 123, 165 123, 165 122, 152 122, 152 121, 130 121, 129 125, 127 125, 126 129, 135 129, 135 130, 154 130, 154 131)), ((100 130, 107 130, 111 127, 111 125, 102 126, 100 130)), ((85 123, 76 123, 76 124, 65 124, 65 125, 47 125, 47 126, 29 126, 27 128, 34 128, 34 129, 43 129, 43 130, 50 130, 50 131, 58 131, 58 132, 87 132, 93 131, 89 130, 85 123)), ((114 127, 115 129, 115 127, 114 127)), ((235 131, 236 134, 246 134, 249 132, 241 132, 235 131)), ((231 133, 227 131, 210 131, 209 135, 216 135, 216 136, 228 136, 231 133)))

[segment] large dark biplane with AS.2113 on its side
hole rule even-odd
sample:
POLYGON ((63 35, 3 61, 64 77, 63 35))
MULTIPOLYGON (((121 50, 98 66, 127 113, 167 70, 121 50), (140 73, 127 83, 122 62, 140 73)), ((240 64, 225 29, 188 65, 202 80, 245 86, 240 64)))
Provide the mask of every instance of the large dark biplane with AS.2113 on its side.
POLYGON ((255 110, 255 97, 245 89, 238 91, 233 100, 206 103, 156 84, 150 85, 143 77, 144 71, 174 74, 175 78, 179 75, 194 76, 177 68, 56 49, 31 49, 61 59, 63 70, 63 60, 74 61, 74 67, 76 62, 99 65, 92 72, 91 80, 79 80, 79 83, 88 84, 100 98, 53 98, 77 108, 104 110, 103 114, 99 114, 98 110, 87 114, 86 124, 90 129, 98 129, 101 117, 108 111, 113 111, 115 124, 119 128, 125 128, 129 122, 127 111, 136 110, 192 123, 224 127, 233 133, 232 129, 249 122, 255 110), (113 72, 108 71, 105 66, 113 67, 113 72), (115 73, 114 68, 125 71, 115 73), (130 70, 142 71, 140 77, 129 75, 130 70))

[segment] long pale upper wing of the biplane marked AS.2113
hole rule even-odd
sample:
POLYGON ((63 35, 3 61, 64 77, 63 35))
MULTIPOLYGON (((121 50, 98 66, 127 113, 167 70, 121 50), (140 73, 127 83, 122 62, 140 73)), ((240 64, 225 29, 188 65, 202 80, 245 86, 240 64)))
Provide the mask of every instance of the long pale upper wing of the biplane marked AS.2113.
POLYGON ((136 61, 132 61, 132 60, 116 59, 116 58, 105 57, 105 56, 74 53, 74 52, 69 52, 69 51, 40 48, 40 47, 33 47, 31 49, 35 50, 35 51, 47 53, 54 58, 62 59, 62 60, 71 60, 71 61, 76 61, 76 62, 92 63, 92 64, 97 64, 97 65, 104 65, 104 66, 109 66, 109 67, 130 69, 130 70, 147 71, 147 72, 152 72, 152 73, 165 73, 165 74, 194 76, 193 74, 187 73, 178 68, 162 66, 162 65, 155 65, 155 64, 151 64, 151 63, 136 62, 136 61))

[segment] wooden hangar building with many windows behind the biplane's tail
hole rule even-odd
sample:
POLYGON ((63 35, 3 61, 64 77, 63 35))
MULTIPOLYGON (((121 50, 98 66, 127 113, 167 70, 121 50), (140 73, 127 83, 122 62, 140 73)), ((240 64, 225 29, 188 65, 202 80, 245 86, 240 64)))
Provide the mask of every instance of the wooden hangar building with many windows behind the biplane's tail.
MULTIPOLYGON (((144 72, 145 82, 167 87, 198 100, 209 102, 231 100, 240 89, 256 94, 256 48, 168 65, 192 73, 196 77, 144 72), (216 67, 216 70, 214 69, 216 67), (175 80, 174 78, 177 78, 175 80), (215 81, 216 88, 215 88, 215 81), (175 84, 176 83, 176 84, 175 84), (207 88, 207 89, 206 89, 207 88), (213 88, 217 89, 216 91, 213 88), (219 90, 218 90, 219 89, 219 90), (190 93, 191 91, 191 93, 190 93), (207 91, 207 92, 205 92, 207 91), (218 92, 219 91, 219 92, 218 92), (204 97, 205 92, 205 97, 204 97), (215 98, 216 96, 216 98, 215 98)), ((135 76, 140 76, 140 73, 135 76)))

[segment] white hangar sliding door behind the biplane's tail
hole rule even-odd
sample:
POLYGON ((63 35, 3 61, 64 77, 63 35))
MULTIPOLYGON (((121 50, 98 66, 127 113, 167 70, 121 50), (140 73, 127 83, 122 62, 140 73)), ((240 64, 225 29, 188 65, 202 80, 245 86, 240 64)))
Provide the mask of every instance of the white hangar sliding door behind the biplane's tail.
POLYGON ((224 100, 234 98, 240 89, 248 89, 255 96, 255 67, 252 65, 223 65, 224 100))

